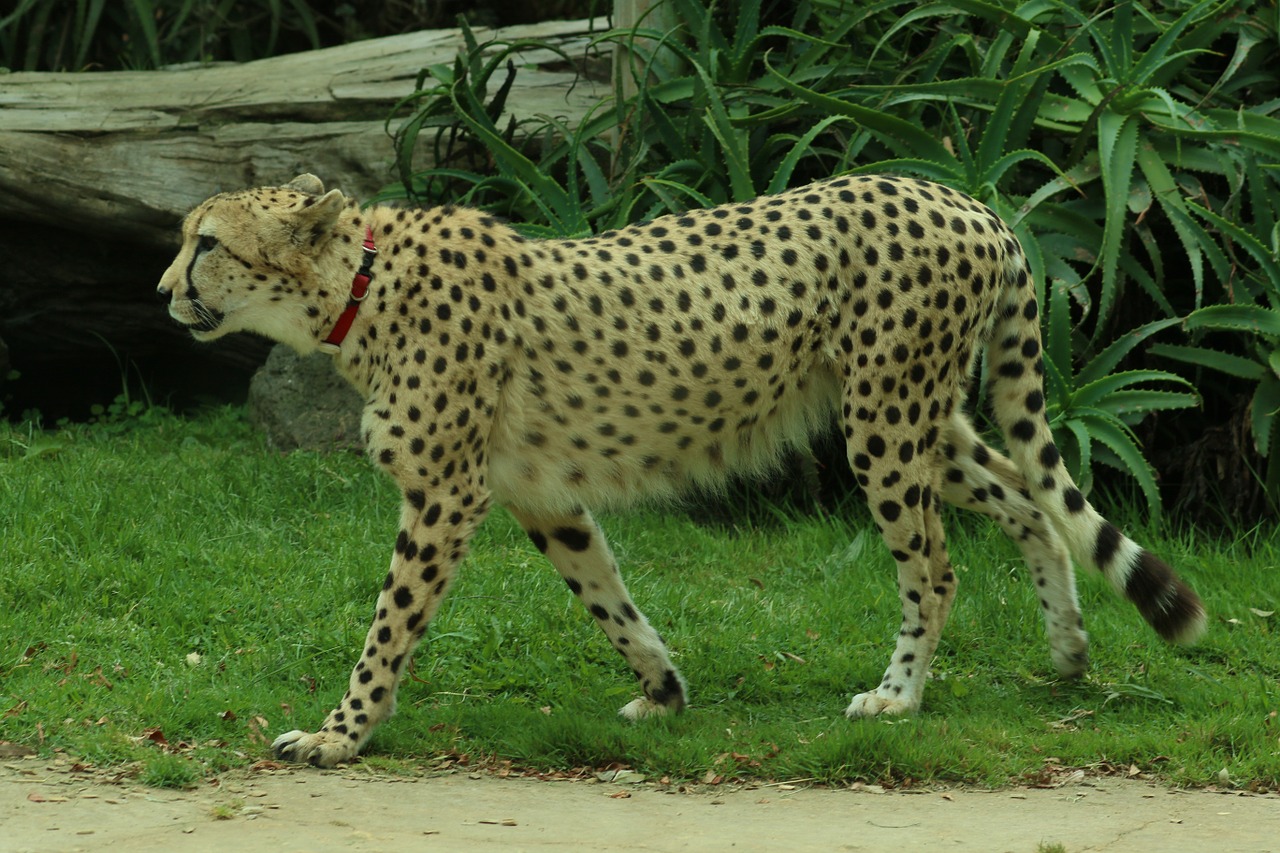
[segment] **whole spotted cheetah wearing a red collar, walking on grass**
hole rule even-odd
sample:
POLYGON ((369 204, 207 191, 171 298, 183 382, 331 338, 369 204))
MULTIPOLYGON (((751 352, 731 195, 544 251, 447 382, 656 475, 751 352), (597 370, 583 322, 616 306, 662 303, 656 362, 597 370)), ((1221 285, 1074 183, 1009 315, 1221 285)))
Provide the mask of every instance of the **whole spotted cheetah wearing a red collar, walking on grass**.
POLYGON ((529 240, 458 206, 361 209, 305 174, 216 195, 159 291, 197 341, 255 332, 324 351, 365 398, 399 533, 346 694, 274 742, 329 767, 396 704, 406 661, 495 505, 524 526, 635 674, 637 720, 686 704, 591 510, 768 471, 832 421, 897 567, 901 625, 849 717, 919 708, 956 594, 941 505, 1021 549, 1059 674, 1088 665, 1071 560, 1165 639, 1204 608, 1071 482, 1046 419, 1039 310, 988 207, 900 177, 837 177, 582 240, 529 240), (963 406, 980 355, 1007 456, 963 406))

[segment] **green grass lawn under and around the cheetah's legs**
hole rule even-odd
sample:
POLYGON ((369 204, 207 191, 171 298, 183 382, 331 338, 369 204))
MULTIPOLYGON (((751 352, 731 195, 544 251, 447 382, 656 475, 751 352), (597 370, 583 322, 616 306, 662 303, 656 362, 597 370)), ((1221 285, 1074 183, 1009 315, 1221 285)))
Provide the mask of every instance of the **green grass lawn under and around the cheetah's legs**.
MULTIPOLYGON (((0 739, 186 785, 269 757, 275 734, 316 726, 339 698, 398 506, 361 457, 270 452, 220 410, 0 425, 0 739)), ((1222 768, 1280 784, 1274 526, 1140 537, 1211 610, 1190 649, 1082 576, 1093 667, 1062 683, 1016 551, 957 515, 960 598, 923 711, 851 722, 844 707, 877 683, 897 625, 892 560, 860 507, 736 530, 655 511, 604 524, 690 681, 689 712, 618 719, 635 695, 626 667, 495 511, 370 762, 984 785, 1135 766, 1175 784, 1222 768)))

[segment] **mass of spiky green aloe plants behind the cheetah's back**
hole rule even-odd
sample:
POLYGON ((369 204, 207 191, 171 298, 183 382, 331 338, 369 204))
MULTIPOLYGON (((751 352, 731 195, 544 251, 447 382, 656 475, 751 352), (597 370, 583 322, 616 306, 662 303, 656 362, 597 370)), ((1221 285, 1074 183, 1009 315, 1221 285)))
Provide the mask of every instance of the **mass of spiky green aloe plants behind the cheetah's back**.
MULTIPOLYGON (((840 172, 940 181, 991 205, 1027 248, 1050 414, 1082 485, 1102 462, 1160 512, 1135 428, 1198 397, 1156 353, 1256 386, 1251 423, 1280 493, 1274 6, 671 3, 677 29, 594 41, 631 49, 639 91, 576 124, 500 124, 513 58, 545 45, 468 33, 390 119, 401 183, 383 197, 580 236, 840 172), (424 129, 430 168, 413 161, 424 129)), ((1238 391, 1215 384, 1210 410, 1238 391)))

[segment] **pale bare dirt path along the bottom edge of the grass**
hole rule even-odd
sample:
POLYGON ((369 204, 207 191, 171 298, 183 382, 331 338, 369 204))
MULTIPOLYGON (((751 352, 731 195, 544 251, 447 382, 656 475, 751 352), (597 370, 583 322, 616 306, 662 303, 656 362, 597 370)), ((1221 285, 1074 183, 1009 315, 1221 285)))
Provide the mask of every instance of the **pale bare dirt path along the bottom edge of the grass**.
POLYGON ((1280 798, 1078 779, 1055 789, 884 793, 353 768, 236 772, 169 792, 35 758, 0 766, 0 850, 1275 850, 1280 798))

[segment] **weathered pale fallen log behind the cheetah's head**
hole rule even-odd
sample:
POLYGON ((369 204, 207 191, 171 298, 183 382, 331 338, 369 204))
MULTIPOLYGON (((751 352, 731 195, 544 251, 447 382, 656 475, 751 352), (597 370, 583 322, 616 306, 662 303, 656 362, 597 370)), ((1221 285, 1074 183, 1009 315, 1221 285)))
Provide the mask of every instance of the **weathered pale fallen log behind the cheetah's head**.
MULTIPOLYGON (((581 54, 603 19, 476 31, 581 54)), ((433 29, 244 64, 0 77, 0 218, 172 245, 212 192, 301 170, 366 197, 392 179, 388 111, 419 69, 451 64, 461 31, 433 29)), ((553 51, 521 55, 508 104, 581 115, 602 91, 553 51)))

